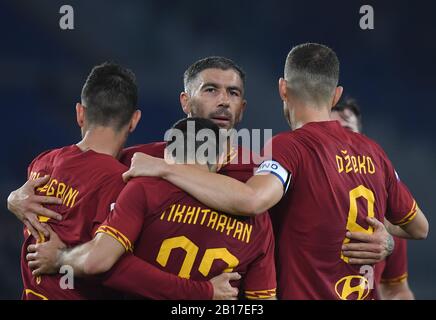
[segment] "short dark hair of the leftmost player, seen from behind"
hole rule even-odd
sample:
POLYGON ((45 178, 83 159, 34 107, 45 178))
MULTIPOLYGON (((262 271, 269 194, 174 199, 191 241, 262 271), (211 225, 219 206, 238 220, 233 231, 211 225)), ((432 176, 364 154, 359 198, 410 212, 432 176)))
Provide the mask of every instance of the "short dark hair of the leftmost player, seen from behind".
POLYGON ((97 65, 86 79, 81 98, 90 124, 119 130, 129 123, 137 107, 135 74, 113 62, 97 65))

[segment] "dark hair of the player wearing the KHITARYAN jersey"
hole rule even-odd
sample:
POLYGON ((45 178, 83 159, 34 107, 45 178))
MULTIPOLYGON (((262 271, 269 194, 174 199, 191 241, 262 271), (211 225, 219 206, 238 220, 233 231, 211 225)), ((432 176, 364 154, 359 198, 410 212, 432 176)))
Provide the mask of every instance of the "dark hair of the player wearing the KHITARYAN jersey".
POLYGON ((198 161, 196 159, 197 151, 200 147, 205 148, 206 150, 209 150, 209 148, 213 148, 214 150, 214 158, 210 159, 212 155, 209 155, 207 152, 205 152, 205 156, 207 157, 208 164, 216 164, 218 157, 223 152, 223 146, 221 144, 224 143, 224 141, 227 141, 223 139, 221 136, 220 128, 209 119, 205 118, 199 118, 199 117, 192 117, 192 118, 184 118, 182 120, 177 121, 172 127, 171 130, 168 132, 168 137, 165 140, 167 141, 167 147, 172 146, 174 143, 183 143, 183 153, 176 153, 177 148, 181 148, 182 146, 176 145, 175 148, 172 150, 171 156, 176 159, 176 162, 178 163, 186 163, 188 159, 194 160, 195 162, 198 161), (188 125, 193 127, 193 131, 188 131, 188 125), (200 130, 203 129, 209 129, 212 133, 211 136, 207 136, 204 140, 197 140, 197 134, 200 132, 200 130), (183 141, 177 140, 177 135, 174 134, 174 131, 179 131, 183 135, 183 141), (193 150, 188 149, 188 140, 193 139, 194 143, 189 141, 189 143, 192 143, 194 146, 193 150), (188 152, 191 151, 194 154, 188 154, 188 152))

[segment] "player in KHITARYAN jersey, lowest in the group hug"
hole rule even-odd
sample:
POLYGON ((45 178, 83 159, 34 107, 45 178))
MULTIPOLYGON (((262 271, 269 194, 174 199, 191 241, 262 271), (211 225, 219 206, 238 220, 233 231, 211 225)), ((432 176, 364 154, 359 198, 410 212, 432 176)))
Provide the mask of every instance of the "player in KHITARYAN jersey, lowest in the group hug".
MULTIPOLYGON (((226 143, 221 139, 220 144, 216 124, 188 118, 177 122, 171 135, 174 139, 168 142, 165 154, 168 160, 192 162, 190 166, 199 170, 216 172, 220 146, 226 143), (206 141, 197 138, 205 130, 206 141), (191 142, 192 150, 186 148, 191 142)), ((29 254, 36 274, 56 272, 62 265, 71 266, 77 275, 99 274, 125 252, 133 251, 149 263, 189 279, 210 279, 221 272, 236 271, 243 277, 235 285, 243 288, 246 298, 275 297, 269 215, 234 217, 210 210, 162 179, 131 180, 92 241, 60 252, 58 247, 51 240, 29 248, 36 252, 29 254)))

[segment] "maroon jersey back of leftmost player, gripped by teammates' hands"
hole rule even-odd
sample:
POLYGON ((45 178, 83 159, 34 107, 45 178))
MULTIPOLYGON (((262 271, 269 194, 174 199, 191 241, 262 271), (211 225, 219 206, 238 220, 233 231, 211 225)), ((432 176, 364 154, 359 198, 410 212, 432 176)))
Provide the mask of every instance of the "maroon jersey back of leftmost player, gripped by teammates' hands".
MULTIPOLYGON (((61 198, 63 203, 47 206, 60 213, 62 221, 47 221, 42 217, 40 220, 46 221, 67 246, 91 240, 96 227, 106 219, 111 204, 125 186, 121 174, 126 170, 115 158, 92 150, 83 152, 76 145, 42 153, 30 164, 28 178, 50 175, 49 182, 36 192, 61 198)), ((21 256, 23 299, 114 297, 113 291, 97 286, 91 280, 61 279, 65 274, 33 277, 25 256, 27 246, 35 243, 35 239, 27 229, 24 229, 24 239, 21 256)))

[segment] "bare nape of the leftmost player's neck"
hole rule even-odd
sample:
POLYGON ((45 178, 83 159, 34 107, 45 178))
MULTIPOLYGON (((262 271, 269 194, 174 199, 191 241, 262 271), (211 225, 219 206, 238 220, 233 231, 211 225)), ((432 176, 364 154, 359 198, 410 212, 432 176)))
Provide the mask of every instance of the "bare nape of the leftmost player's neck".
POLYGON ((117 158, 125 140, 122 133, 116 133, 112 128, 93 127, 85 132, 83 139, 76 145, 82 151, 93 150, 117 158))

